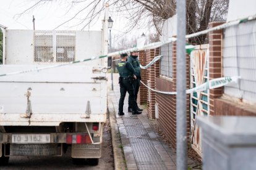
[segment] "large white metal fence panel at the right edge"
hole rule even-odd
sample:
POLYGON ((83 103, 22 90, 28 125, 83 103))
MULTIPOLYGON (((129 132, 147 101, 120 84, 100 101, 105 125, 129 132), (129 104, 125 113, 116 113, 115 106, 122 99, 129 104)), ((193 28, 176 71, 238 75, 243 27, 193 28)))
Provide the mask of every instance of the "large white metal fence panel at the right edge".
POLYGON ((256 102, 256 20, 224 30, 223 75, 241 76, 224 94, 256 102))

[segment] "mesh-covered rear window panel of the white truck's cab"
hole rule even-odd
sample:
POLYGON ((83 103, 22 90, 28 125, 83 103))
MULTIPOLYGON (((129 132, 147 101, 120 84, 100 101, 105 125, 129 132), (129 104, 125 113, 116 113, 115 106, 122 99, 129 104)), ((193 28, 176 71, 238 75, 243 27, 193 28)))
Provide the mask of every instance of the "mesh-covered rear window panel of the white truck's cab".
POLYGON ((72 62, 75 60, 75 33, 35 31, 35 62, 72 62))

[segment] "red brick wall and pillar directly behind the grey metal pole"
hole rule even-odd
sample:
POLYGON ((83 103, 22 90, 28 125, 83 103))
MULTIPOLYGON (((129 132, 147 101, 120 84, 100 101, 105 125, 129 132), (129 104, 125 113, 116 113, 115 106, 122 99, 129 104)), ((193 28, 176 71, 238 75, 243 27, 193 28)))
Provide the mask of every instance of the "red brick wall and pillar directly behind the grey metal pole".
MULTIPOLYGON (((155 78, 156 89, 160 91, 176 91, 177 71, 176 70, 176 42, 173 43, 173 79, 172 81, 163 78, 155 78)), ((186 55, 186 88, 190 87, 190 59, 186 55)), ((176 95, 166 95, 156 93, 156 103, 158 103, 159 118, 156 122, 164 132, 173 147, 176 147, 176 95)), ((190 132, 190 95, 187 95, 187 135, 190 132)))

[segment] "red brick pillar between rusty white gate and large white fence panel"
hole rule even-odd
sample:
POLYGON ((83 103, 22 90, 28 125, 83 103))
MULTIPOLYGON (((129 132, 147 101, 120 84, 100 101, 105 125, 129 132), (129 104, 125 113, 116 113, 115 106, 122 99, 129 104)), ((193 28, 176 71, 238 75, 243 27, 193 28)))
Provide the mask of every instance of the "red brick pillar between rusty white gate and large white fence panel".
MULTIPOLYGON (((211 22, 209 28, 221 25, 223 22, 211 22)), ((222 76, 221 65, 221 43, 222 43, 222 30, 211 31, 209 33, 209 79, 220 78, 222 76)), ((221 97, 223 94, 223 87, 210 90, 210 115, 214 113, 214 99, 221 97)))

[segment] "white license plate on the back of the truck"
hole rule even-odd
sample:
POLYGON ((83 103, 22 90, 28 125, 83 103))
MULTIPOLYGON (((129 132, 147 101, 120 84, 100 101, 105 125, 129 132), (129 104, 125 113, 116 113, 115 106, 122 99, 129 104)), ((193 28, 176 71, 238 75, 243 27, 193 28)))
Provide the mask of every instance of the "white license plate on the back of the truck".
POLYGON ((50 142, 50 134, 12 134, 13 144, 45 144, 50 142))

